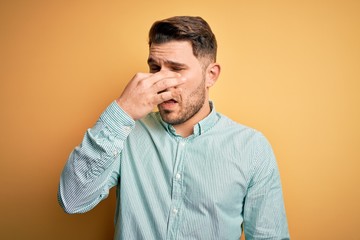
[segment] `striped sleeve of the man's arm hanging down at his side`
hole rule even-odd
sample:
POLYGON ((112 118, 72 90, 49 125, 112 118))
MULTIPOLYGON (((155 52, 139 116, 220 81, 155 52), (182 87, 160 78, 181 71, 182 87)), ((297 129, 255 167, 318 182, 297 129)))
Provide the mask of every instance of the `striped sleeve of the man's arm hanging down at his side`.
POLYGON ((244 203, 246 240, 290 239, 275 156, 262 134, 254 141, 253 174, 244 203))

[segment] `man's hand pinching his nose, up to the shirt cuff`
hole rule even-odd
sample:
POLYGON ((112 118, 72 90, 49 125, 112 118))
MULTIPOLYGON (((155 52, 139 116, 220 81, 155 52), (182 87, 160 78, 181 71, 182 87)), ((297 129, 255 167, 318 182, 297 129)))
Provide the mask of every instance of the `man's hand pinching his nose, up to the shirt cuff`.
POLYGON ((179 73, 171 71, 137 73, 116 102, 134 120, 138 120, 158 104, 177 98, 181 92, 178 86, 184 81, 179 73))

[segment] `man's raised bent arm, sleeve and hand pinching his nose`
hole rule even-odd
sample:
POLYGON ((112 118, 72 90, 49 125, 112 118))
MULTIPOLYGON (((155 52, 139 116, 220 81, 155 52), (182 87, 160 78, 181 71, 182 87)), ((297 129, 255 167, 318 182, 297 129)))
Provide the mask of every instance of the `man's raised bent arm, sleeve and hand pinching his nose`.
POLYGON ((157 104, 177 97, 185 80, 171 71, 134 76, 70 154, 58 191, 59 203, 66 212, 89 211, 108 196, 120 177, 120 154, 135 120, 157 104))

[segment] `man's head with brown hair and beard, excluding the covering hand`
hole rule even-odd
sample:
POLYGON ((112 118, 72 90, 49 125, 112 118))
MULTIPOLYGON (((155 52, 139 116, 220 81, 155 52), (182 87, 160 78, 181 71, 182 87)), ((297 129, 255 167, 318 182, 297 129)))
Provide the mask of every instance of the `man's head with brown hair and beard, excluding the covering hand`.
POLYGON ((153 24, 149 32, 150 72, 172 71, 186 79, 178 88, 165 90, 181 89, 177 97, 158 105, 165 122, 193 126, 209 114, 208 90, 220 73, 216 50, 215 36, 200 17, 172 17, 153 24))

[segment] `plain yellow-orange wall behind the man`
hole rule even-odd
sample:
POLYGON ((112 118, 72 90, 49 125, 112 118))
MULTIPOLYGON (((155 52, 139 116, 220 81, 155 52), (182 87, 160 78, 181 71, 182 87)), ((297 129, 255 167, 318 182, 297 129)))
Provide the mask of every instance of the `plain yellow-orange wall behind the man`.
POLYGON ((277 155, 292 239, 360 239, 360 1, 1 1, 1 239, 111 239, 114 191, 57 204, 68 154, 137 71, 158 19, 219 42, 218 111, 277 155))

